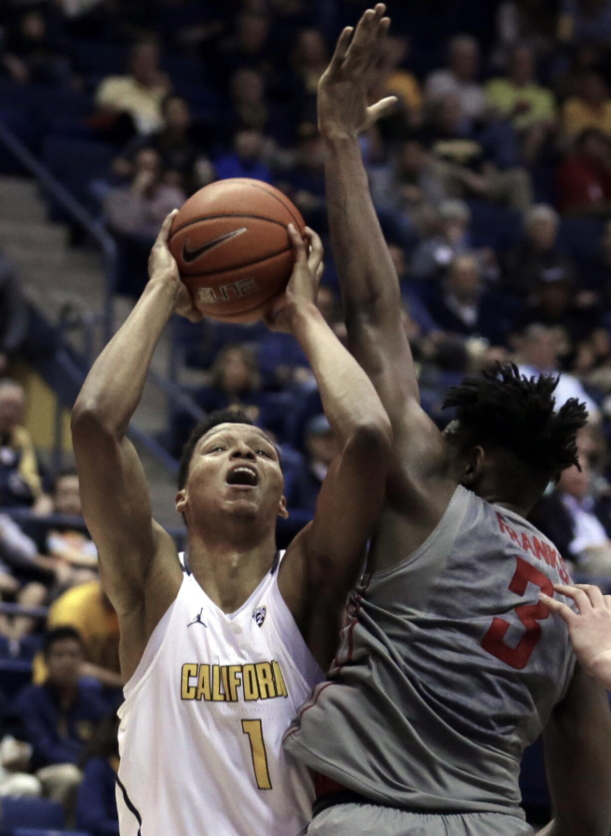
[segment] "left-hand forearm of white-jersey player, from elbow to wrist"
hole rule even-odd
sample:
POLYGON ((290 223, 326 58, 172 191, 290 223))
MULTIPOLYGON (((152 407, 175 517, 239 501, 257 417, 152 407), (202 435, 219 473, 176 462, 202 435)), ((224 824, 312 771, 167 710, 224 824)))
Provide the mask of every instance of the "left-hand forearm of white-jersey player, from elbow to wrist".
POLYGON ((117 436, 127 431, 140 403, 155 346, 176 309, 176 288, 151 281, 128 319, 96 359, 74 405, 79 421, 94 422, 117 436))

